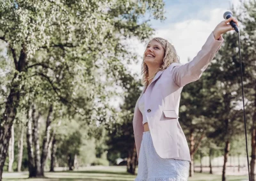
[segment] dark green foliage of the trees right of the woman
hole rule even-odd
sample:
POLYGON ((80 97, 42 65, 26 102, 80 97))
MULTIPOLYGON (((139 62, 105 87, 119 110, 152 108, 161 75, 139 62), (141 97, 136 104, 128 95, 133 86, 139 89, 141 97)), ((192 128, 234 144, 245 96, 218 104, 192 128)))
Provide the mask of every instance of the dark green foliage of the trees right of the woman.
MULTIPOLYGON (((234 15, 241 25, 246 123, 249 131, 255 113, 255 2, 245 3, 243 13, 234 15), (248 15, 248 16, 246 16, 248 15)), ((234 10, 234 12, 236 12, 234 10)), ((230 154, 246 155, 244 141, 243 104, 237 33, 223 34, 224 42, 200 80, 184 87, 180 101, 180 122, 187 130, 204 131, 198 154, 223 154, 225 141, 231 143, 230 154), (214 147, 212 147, 214 146, 214 147)), ((248 133, 250 134, 250 133, 248 133)), ((198 137, 199 137, 198 136, 198 137)), ((189 140, 189 139, 188 139, 189 140)), ((198 138, 195 138, 198 140, 198 138)), ((248 139, 250 143, 250 138, 248 139)), ((250 148, 249 148, 250 152, 250 148)))

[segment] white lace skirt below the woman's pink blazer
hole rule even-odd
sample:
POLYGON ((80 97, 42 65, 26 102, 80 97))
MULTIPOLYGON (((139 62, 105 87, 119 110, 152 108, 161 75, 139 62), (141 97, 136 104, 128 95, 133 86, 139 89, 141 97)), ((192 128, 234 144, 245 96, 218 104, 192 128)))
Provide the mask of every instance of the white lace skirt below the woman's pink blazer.
POLYGON ((162 159, 156 153, 150 131, 143 132, 135 181, 187 181, 189 161, 162 159))

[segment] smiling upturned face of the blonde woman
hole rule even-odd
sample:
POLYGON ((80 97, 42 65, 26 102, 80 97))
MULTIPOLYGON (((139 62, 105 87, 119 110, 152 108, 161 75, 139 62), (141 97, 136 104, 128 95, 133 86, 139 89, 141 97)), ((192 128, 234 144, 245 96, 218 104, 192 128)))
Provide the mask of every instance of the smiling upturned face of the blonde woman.
POLYGON ((147 66, 161 66, 164 59, 164 49, 162 45, 156 40, 151 40, 144 52, 143 59, 147 66))

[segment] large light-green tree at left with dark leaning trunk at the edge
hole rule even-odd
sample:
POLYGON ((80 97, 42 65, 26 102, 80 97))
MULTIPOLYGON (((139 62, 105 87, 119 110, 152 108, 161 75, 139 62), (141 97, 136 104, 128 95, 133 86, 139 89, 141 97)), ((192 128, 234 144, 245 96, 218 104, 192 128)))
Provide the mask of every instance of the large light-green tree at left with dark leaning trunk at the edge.
POLYGON ((163 6, 162 0, 1 1, 0 40, 8 46, 12 64, 6 77, 8 94, 0 118, 0 180, 17 108, 31 92, 26 86, 28 82, 33 78, 39 83, 48 82, 49 87, 44 88, 54 92, 52 97, 68 105, 73 113, 86 113, 86 109, 74 105, 78 99, 72 99, 72 85, 95 83, 95 87, 90 87, 90 96, 95 98, 93 95, 98 93, 101 98, 103 91, 95 77, 100 80, 100 71, 107 81, 123 76, 120 57, 127 61, 136 59, 136 55, 129 54, 121 41, 131 36, 148 38, 153 29, 148 20, 139 24, 138 19, 150 11, 154 18, 163 20, 163 6), (67 71, 61 83, 60 69, 67 71), (81 80, 77 78, 74 82, 75 76, 81 80))

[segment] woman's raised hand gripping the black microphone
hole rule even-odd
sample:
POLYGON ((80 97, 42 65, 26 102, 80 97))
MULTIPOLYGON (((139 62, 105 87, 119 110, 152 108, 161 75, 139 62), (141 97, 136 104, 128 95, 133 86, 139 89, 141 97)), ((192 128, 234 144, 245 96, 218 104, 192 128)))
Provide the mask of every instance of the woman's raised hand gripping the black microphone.
POLYGON ((220 22, 220 24, 218 24, 215 27, 215 29, 213 31, 213 35, 214 35, 215 40, 218 40, 220 38, 221 34, 226 33, 228 31, 231 31, 231 30, 234 30, 234 28, 230 24, 227 24, 231 20, 233 20, 236 23, 237 27, 238 27, 237 18, 230 17, 227 20, 223 20, 222 22, 220 22))

